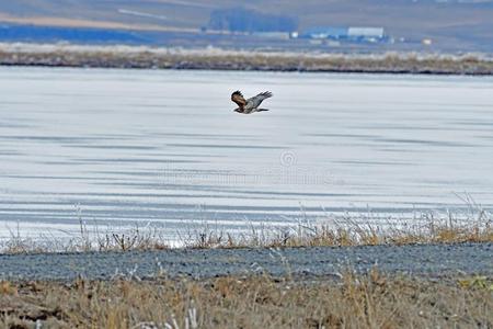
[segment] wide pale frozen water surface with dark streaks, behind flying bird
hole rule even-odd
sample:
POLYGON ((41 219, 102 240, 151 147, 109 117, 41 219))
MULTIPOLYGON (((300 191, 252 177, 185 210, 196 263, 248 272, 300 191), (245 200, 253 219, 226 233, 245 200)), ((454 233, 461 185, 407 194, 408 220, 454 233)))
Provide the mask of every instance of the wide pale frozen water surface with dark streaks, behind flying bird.
POLYGON ((0 159, 0 237, 492 208, 493 79, 1 68, 0 159))

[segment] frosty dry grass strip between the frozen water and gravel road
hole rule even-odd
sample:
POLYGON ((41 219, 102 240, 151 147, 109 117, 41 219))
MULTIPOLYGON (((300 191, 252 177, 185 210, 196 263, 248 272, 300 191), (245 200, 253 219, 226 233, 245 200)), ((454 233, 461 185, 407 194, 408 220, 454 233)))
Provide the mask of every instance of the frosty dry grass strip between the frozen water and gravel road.
POLYGON ((379 225, 362 224, 364 219, 347 215, 317 224, 301 220, 287 228, 252 226, 250 231, 236 235, 204 223, 198 229, 180 235, 179 242, 167 239, 156 227, 108 228, 101 232, 98 227, 90 230, 83 220, 80 223, 80 236, 69 239, 24 238, 18 228, 10 239, 0 241, 0 253, 160 250, 170 246, 209 249, 493 242, 492 216, 484 211, 461 219, 450 214, 446 218, 429 214, 379 225))

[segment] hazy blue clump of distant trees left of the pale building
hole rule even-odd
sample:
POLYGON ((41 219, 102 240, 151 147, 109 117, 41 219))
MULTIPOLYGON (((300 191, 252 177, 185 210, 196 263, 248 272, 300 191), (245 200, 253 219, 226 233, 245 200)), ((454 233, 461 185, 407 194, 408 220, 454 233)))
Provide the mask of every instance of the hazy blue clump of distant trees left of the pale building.
POLYGON ((293 32, 298 29, 296 19, 264 14, 244 8, 215 10, 210 14, 209 29, 231 32, 293 32))

